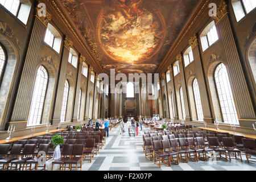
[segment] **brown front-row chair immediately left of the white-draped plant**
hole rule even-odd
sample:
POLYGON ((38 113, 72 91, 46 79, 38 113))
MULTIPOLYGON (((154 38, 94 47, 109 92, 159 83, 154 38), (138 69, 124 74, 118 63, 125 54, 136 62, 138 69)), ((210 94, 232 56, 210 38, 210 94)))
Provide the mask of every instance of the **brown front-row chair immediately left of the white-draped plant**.
POLYGON ((39 160, 39 157, 40 157, 40 156, 38 155, 38 152, 39 152, 39 151, 44 151, 44 152, 46 152, 45 158, 46 158, 46 160, 47 160, 47 155, 48 155, 48 151, 49 151, 49 146, 50 146, 49 144, 40 144, 38 150, 34 152, 34 158, 26 160, 26 162, 25 162, 25 164, 26 164, 26 169, 27 169, 28 164, 30 164, 30 168, 29 168, 30 170, 35 169, 35 171, 37 171, 37 170, 38 170, 38 167, 43 167, 43 169, 46 169, 46 164, 44 164, 44 166, 38 166, 38 163, 39 163, 38 160, 39 160), (35 168, 32 168, 32 164, 35 164, 35 168))

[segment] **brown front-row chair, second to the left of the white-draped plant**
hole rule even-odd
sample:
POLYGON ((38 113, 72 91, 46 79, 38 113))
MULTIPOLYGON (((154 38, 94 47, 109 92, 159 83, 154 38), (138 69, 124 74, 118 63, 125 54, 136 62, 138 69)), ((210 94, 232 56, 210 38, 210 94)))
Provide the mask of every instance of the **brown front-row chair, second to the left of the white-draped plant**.
MULTIPOLYGON (((18 169, 18 164, 19 164, 19 170, 22 167, 22 170, 24 169, 24 164, 26 163, 27 160, 30 160, 34 158, 34 152, 35 152, 35 147, 36 144, 25 144, 21 158, 17 158, 11 161, 11 168, 13 167, 13 164, 15 164, 15 169, 18 169)), ((27 170, 27 167, 26 167, 27 170)))

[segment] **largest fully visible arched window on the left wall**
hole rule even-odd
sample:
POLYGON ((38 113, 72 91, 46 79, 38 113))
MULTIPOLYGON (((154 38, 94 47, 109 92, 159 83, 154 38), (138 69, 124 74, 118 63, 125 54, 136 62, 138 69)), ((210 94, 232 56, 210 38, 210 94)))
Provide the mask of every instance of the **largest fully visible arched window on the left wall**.
POLYGON ((41 65, 38 69, 38 73, 36 74, 35 87, 30 106, 30 114, 28 115, 27 126, 39 125, 41 122, 47 84, 48 73, 46 68, 41 65))

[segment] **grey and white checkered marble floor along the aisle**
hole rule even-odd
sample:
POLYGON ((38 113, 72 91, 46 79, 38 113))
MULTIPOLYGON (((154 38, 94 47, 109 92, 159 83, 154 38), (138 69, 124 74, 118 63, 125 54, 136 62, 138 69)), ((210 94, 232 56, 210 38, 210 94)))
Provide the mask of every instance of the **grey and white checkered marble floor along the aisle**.
POLYGON ((188 163, 181 162, 179 165, 172 164, 171 167, 162 165, 156 166, 152 160, 144 157, 142 134, 149 130, 143 127, 136 137, 129 137, 127 125, 125 133, 120 133, 119 126, 109 132, 106 138, 106 144, 97 156, 94 156, 92 163, 84 161, 82 163, 83 171, 255 171, 256 163, 247 163, 245 155, 242 155, 243 162, 240 160, 231 160, 226 162, 224 159, 218 159, 214 162, 188 163))

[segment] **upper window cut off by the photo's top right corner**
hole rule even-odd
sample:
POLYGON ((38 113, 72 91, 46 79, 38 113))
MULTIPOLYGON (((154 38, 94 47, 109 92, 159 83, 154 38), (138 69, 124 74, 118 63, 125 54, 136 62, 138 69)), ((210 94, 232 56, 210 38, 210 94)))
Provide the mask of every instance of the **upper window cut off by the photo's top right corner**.
POLYGON ((255 0, 232 0, 232 6, 237 22, 256 7, 255 0))

